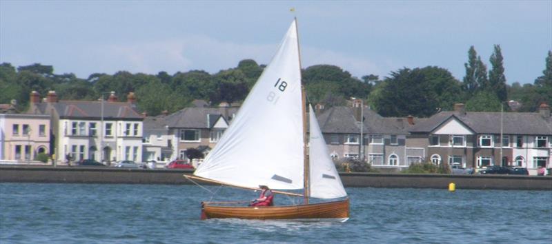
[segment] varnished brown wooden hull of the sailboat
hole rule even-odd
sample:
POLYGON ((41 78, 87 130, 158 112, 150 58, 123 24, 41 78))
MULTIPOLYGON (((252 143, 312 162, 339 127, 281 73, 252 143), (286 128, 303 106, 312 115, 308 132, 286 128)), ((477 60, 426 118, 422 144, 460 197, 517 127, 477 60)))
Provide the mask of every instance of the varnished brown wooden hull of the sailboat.
POLYGON ((301 218, 349 218, 349 199, 327 203, 287 205, 272 207, 235 207, 202 203, 201 219, 246 218, 246 219, 301 219, 301 218))

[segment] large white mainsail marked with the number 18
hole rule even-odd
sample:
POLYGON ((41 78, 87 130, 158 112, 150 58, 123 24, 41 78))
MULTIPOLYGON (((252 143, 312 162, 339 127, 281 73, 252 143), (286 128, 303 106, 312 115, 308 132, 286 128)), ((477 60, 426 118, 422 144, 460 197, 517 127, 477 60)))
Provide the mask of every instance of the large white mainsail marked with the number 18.
POLYGON ((296 21, 215 148, 194 174, 230 185, 303 188, 301 69, 296 21))

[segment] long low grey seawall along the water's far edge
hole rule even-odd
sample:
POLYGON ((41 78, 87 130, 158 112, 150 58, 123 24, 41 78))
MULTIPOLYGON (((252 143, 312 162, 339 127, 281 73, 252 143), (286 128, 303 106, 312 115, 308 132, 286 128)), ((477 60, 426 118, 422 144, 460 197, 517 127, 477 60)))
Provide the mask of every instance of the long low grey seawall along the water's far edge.
MULTIPOLYGON (((0 183, 193 184, 191 170, 0 165, 0 183)), ((552 190, 552 176, 340 173, 346 187, 552 190)), ((204 184, 204 183, 203 183, 204 184)))

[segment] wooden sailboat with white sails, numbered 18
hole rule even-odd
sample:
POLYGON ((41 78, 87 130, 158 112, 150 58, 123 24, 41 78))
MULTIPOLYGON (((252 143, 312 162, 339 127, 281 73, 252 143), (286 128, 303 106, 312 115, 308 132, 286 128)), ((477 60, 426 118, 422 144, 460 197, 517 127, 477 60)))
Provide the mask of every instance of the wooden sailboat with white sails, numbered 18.
MULTIPOLYGON (((300 196, 290 205, 240 206, 202 202, 201 218, 325 219, 346 221, 349 199, 301 84, 297 19, 215 148, 188 179, 300 196), (303 190, 303 194, 290 190, 303 190), (309 203, 311 198, 322 199, 309 203)), ((300 191, 299 191, 300 192, 300 191)))

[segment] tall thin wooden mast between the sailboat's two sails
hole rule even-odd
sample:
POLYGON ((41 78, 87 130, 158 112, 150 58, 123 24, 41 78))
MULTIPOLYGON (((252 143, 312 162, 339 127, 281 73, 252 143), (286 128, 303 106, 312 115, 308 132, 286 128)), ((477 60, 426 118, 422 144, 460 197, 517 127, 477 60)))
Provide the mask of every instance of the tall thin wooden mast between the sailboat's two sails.
MULTIPOLYGON (((297 25, 297 17, 295 19, 295 35, 297 36, 297 57, 299 58, 299 75, 301 74, 301 48, 299 48, 299 27, 297 25)), ((299 79, 302 77, 299 76, 299 79)), ((301 82, 302 83, 302 82, 301 82)), ((305 88, 303 85, 301 85, 301 108, 303 112, 303 196, 304 196, 304 204, 308 204, 308 195, 310 188, 310 181, 309 181, 309 168, 308 168, 308 155, 307 155, 307 145, 308 145, 308 138, 306 136, 306 93, 305 88)))

